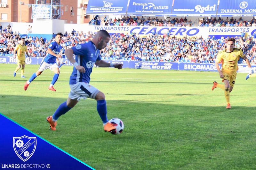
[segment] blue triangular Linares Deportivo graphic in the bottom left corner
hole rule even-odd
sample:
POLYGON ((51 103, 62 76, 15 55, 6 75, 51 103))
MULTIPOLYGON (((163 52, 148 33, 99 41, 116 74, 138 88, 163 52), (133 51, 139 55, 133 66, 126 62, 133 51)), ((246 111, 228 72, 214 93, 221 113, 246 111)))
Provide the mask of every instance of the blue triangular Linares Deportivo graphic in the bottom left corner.
POLYGON ((1 113, 0 160, 0 169, 93 169, 1 113))

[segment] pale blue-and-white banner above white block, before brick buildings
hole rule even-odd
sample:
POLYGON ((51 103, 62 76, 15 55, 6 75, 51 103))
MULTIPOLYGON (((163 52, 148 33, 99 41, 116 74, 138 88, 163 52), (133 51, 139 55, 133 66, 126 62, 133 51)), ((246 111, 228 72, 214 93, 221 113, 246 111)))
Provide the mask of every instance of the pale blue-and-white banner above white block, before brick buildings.
POLYGON ((33 4, 31 19, 52 19, 52 5, 33 4))

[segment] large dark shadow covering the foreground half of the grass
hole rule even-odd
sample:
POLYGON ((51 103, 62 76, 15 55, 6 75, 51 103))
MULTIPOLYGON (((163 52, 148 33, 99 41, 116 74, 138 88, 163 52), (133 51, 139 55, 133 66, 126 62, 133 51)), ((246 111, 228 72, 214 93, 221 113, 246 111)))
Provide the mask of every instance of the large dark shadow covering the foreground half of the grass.
POLYGON ((255 154, 248 152, 255 144, 255 107, 107 100, 108 118, 124 122, 123 133, 113 136, 103 131, 95 100, 81 100, 62 115, 57 131, 48 130, 45 118, 65 99, 1 95, 0 101, 2 114, 95 169, 116 164, 118 169, 247 169, 253 164, 244 161, 255 154))

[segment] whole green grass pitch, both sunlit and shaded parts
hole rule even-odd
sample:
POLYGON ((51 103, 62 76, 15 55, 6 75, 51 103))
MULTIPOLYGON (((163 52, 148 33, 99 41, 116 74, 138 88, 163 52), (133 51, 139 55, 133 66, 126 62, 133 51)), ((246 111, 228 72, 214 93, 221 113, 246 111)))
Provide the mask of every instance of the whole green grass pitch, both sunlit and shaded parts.
POLYGON ((226 109, 217 72, 93 68, 91 85, 105 93, 108 119, 124 131, 103 131, 97 102, 81 100, 49 130, 45 118, 67 100, 72 67, 63 66, 54 88, 44 71, 0 64, 0 112, 95 169, 256 169, 256 78, 238 73, 226 109))

